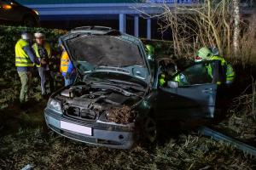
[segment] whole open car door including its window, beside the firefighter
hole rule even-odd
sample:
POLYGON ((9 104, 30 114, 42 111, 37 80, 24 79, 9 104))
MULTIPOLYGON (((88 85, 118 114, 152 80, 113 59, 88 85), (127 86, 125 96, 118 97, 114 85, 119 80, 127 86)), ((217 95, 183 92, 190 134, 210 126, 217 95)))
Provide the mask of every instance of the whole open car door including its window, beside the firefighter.
POLYGON ((181 121, 213 118, 217 82, 222 80, 222 67, 218 60, 195 63, 184 71, 178 72, 166 86, 159 87, 158 118, 181 121), (212 66, 212 73, 208 71, 209 66, 212 66), (179 81, 175 82, 177 79, 179 81))

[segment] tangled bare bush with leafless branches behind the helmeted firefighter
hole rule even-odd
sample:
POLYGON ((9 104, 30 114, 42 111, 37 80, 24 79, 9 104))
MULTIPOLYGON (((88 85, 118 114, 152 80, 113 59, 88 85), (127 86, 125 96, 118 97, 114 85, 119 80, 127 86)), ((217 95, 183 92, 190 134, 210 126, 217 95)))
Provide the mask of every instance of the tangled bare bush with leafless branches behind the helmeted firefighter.
POLYGON ((164 12, 154 17, 160 20, 160 31, 171 28, 177 56, 191 57, 202 46, 214 46, 226 58, 252 59, 255 25, 240 29, 243 25, 237 16, 236 0, 206 0, 191 6, 172 7, 164 3, 161 8, 164 12), (248 41, 248 38, 251 39, 248 41))

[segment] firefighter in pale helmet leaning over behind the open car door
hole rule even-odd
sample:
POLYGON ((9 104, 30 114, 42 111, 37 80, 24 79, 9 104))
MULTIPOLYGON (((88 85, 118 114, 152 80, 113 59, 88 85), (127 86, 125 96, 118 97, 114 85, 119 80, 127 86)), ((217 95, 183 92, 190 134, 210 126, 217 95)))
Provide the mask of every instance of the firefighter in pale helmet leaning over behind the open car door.
MULTIPOLYGON (((232 82, 234 82, 236 77, 236 72, 233 70, 232 65, 227 63, 223 57, 219 56, 218 54, 212 54, 211 49, 207 47, 203 47, 198 50, 195 56, 195 62, 199 62, 202 60, 219 60, 225 75, 224 83, 230 85, 232 82)), ((207 71, 208 71, 208 74, 212 77, 214 69, 212 69, 211 65, 207 66, 207 71)), ((222 82, 217 82, 217 83, 221 84, 222 82)))

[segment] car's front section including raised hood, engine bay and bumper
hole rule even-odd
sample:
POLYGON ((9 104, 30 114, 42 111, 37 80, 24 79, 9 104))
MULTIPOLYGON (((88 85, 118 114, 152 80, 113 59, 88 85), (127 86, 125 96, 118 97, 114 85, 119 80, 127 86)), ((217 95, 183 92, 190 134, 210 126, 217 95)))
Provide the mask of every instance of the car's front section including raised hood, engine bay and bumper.
POLYGON ((70 139, 131 148, 150 80, 143 43, 103 27, 78 28, 61 41, 79 78, 49 99, 47 125, 70 139))

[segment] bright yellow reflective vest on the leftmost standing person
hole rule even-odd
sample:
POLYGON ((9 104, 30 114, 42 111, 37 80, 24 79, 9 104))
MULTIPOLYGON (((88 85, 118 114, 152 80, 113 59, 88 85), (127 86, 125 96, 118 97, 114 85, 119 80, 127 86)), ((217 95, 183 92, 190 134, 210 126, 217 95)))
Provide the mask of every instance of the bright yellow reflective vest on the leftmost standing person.
POLYGON ((29 43, 23 39, 20 39, 15 45, 15 66, 33 66, 31 59, 23 50, 29 43))

